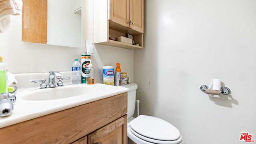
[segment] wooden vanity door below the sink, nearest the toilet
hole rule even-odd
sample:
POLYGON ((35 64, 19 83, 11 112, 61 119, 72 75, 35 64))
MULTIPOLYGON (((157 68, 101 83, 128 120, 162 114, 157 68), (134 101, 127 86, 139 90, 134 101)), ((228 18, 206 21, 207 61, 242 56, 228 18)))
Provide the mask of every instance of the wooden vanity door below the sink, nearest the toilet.
POLYGON ((88 144, 127 144, 127 115, 88 134, 88 144))

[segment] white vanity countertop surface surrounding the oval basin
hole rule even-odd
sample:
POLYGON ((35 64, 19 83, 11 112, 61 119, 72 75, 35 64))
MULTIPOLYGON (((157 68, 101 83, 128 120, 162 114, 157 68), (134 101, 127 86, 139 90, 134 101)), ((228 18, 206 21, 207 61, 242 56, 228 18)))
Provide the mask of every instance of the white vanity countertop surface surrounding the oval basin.
MULTIPOLYGON (((44 91, 44 89, 30 88, 30 89, 18 89, 16 92, 16 102, 14 103, 14 109, 11 115, 0 117, 0 128, 10 126, 19 122, 24 122, 33 118, 65 110, 68 108, 76 107, 121 93, 125 93, 128 89, 124 87, 115 87, 110 85, 104 85, 95 83, 93 85, 80 84, 81 86, 91 87, 92 91, 76 97, 68 97, 64 99, 55 100, 43 100, 43 101, 28 101, 21 99, 22 95, 31 93, 32 91, 44 91)), ((66 85, 63 87, 72 87, 74 85, 66 85)), ((46 89, 58 89, 46 88, 46 89)))

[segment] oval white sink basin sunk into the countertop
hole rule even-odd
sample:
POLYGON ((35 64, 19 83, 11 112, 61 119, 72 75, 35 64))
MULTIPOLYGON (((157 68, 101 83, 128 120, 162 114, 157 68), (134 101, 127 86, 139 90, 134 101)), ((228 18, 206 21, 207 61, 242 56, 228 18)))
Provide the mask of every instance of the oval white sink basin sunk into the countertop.
POLYGON ((30 93, 20 95, 20 99, 27 101, 64 99, 91 93, 93 89, 93 87, 89 87, 87 85, 67 85, 63 87, 36 89, 30 91, 30 93))

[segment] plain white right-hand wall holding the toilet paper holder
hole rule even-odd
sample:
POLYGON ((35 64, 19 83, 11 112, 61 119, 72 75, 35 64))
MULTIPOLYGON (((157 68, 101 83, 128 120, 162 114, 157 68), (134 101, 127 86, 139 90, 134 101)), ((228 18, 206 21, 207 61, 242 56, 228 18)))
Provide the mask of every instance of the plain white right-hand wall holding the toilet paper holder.
POLYGON ((144 49, 134 50, 140 114, 176 126, 183 144, 256 140, 256 1, 144 0, 144 49), (231 95, 200 85, 221 79, 231 95))

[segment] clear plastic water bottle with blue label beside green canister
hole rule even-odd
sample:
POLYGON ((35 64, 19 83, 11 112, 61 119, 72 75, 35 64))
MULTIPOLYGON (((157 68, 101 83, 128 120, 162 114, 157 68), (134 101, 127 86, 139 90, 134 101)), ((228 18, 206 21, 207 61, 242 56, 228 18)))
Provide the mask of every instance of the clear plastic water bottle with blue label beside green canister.
POLYGON ((72 84, 80 84, 81 83, 81 65, 78 59, 72 64, 72 84))

